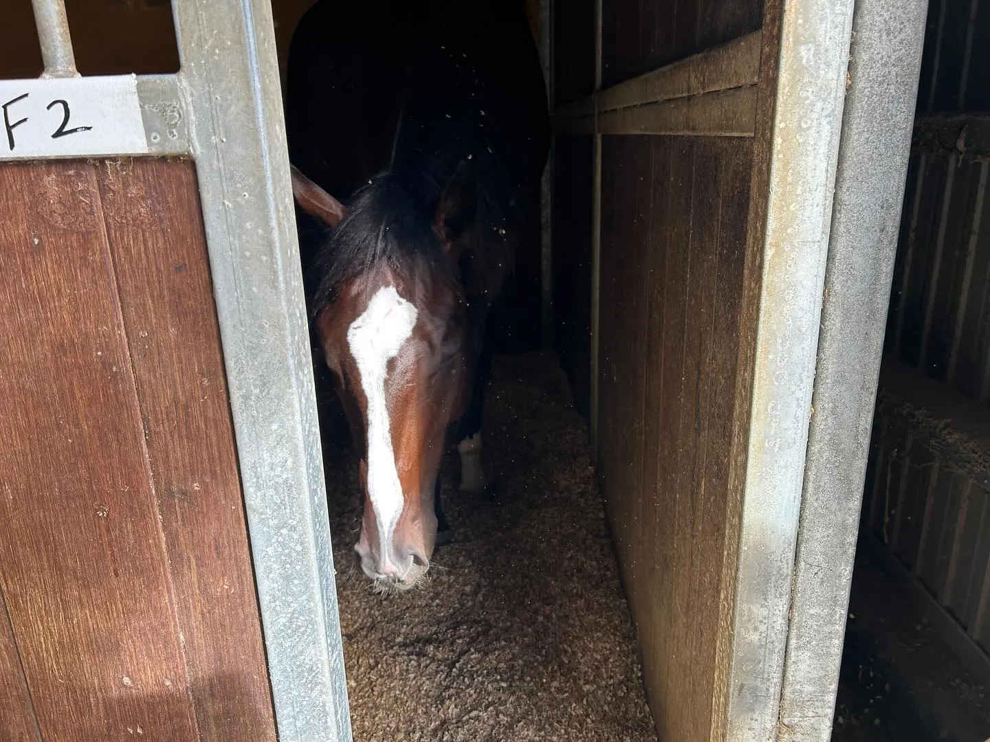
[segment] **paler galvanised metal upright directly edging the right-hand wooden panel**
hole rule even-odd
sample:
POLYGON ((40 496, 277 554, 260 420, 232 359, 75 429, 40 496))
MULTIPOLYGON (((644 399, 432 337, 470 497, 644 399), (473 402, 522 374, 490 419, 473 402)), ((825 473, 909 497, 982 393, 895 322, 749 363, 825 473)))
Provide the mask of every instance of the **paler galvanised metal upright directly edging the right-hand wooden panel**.
MULTIPOLYGON (((752 182, 759 185, 753 195, 766 199, 766 220, 753 246, 760 255, 759 273, 747 276, 758 281, 758 290, 743 305, 745 331, 754 328, 755 338, 743 343, 752 355, 742 356, 752 376, 724 686, 727 742, 787 739, 789 730, 781 723, 796 728, 804 723, 781 713, 781 692, 853 5, 853 0, 783 3, 774 13, 779 46, 767 49, 777 55, 777 74, 768 74, 765 83, 760 78, 760 94, 773 106, 772 118, 760 119, 754 140, 752 182), (768 168, 765 185, 763 167, 768 168), (754 327, 748 325, 750 302, 754 327)), ((764 22, 764 40, 777 33, 764 22)), ((756 216, 750 213, 749 219, 756 216)), ((848 533, 855 532, 853 524, 848 533)), ((833 631, 823 633, 834 638, 833 631)))

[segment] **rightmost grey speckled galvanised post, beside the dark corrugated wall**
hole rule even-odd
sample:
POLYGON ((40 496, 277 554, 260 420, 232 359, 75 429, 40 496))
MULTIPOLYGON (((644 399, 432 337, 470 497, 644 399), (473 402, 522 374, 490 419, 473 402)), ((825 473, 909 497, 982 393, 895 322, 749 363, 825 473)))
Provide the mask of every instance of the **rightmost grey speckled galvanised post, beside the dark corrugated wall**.
POLYGON ((927 5, 855 2, 778 739, 832 734, 927 5))

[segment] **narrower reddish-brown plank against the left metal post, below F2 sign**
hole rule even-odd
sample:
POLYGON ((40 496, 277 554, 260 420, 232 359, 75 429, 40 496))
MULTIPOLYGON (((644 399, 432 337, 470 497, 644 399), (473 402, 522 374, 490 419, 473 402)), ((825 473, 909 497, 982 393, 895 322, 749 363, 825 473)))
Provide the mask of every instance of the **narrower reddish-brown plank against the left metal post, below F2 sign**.
POLYGON ((274 740, 194 166, 108 162, 100 186, 200 733, 274 740))

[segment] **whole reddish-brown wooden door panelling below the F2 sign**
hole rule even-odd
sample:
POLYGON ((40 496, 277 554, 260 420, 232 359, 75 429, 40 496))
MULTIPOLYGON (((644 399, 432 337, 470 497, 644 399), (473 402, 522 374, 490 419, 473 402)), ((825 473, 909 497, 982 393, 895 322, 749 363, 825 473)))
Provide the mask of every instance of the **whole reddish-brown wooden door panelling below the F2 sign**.
POLYGON ((274 740, 195 170, 0 164, 0 740, 274 740))

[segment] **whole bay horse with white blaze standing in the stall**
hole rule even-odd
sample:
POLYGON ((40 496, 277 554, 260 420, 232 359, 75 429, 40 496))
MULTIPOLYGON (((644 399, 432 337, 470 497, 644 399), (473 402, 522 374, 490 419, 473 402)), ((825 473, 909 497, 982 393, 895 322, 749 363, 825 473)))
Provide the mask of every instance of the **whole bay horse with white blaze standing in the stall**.
POLYGON ((449 537, 448 445, 460 490, 485 487, 489 318, 539 231, 549 117, 522 2, 320 0, 286 122, 315 339, 360 455, 354 549, 407 589, 449 537))

